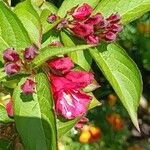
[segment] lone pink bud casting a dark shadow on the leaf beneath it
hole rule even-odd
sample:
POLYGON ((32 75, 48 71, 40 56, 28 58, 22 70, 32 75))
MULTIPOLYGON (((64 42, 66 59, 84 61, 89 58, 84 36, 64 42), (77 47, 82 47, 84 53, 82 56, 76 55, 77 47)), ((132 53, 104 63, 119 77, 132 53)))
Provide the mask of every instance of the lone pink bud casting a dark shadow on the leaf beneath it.
POLYGON ((27 79, 25 83, 21 85, 21 90, 24 94, 35 93, 35 82, 31 79, 27 79))

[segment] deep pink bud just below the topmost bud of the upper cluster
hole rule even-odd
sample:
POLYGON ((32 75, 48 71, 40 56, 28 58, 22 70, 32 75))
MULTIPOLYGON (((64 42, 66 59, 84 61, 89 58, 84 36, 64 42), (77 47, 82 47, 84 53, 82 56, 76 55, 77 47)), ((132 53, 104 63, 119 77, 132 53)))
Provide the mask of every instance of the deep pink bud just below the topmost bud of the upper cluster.
POLYGON ((85 37, 94 32, 93 26, 89 24, 84 24, 77 22, 70 28, 77 36, 85 37))

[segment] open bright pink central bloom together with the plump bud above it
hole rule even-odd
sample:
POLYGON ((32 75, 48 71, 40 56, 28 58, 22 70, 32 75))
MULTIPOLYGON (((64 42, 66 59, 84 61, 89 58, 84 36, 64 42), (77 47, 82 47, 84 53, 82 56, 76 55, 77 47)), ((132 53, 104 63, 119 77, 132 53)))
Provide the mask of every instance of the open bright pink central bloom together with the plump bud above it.
POLYGON ((92 83, 94 76, 85 71, 73 71, 69 57, 59 57, 47 62, 51 73, 49 79, 55 100, 55 111, 66 119, 73 119, 87 111, 92 97, 82 91, 92 83))

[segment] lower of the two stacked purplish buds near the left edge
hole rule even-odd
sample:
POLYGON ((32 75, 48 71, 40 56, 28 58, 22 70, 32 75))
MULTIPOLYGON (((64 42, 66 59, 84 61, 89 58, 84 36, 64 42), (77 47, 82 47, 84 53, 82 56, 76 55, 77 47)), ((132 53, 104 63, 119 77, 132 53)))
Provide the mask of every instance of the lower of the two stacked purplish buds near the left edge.
POLYGON ((20 71, 20 65, 17 63, 7 63, 5 65, 5 72, 7 75, 13 75, 20 71))

